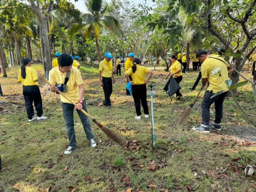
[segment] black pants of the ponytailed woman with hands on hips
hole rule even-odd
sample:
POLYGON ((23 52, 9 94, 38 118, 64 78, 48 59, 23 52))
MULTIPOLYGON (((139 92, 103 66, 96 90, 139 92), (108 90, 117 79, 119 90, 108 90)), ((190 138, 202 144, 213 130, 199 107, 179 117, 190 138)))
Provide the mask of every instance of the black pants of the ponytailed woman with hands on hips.
POLYGON ((147 86, 145 84, 132 85, 132 96, 135 103, 137 116, 141 115, 141 104, 144 114, 149 115, 147 104, 147 86))

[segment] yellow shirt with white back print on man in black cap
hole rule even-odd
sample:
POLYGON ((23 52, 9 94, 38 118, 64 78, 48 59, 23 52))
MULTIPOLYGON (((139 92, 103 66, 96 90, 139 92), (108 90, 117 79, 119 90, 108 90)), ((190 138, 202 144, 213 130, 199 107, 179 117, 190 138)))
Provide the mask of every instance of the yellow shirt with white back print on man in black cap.
POLYGON ((210 55, 201 65, 202 78, 208 78, 210 83, 207 91, 213 91, 213 93, 219 91, 228 91, 225 83, 225 80, 229 80, 227 65, 225 65, 227 62, 224 63, 214 58, 221 59, 225 62, 224 58, 219 55, 210 55), (219 73, 215 73, 215 70, 218 70, 218 68, 219 71, 221 71, 221 76, 219 76, 219 73))

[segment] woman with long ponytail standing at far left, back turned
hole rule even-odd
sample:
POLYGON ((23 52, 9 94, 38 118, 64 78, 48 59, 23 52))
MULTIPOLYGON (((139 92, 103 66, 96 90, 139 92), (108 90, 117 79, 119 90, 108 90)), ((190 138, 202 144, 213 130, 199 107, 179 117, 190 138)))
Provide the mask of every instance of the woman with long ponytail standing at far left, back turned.
POLYGON ((35 119, 46 119, 43 116, 42 98, 40 90, 38 88, 37 73, 31 68, 31 62, 29 58, 22 59, 22 66, 19 71, 18 82, 22 82, 23 96, 25 99, 26 113, 28 114, 28 122, 35 119), (35 117, 33 101, 35 110, 37 110, 37 117, 35 117))

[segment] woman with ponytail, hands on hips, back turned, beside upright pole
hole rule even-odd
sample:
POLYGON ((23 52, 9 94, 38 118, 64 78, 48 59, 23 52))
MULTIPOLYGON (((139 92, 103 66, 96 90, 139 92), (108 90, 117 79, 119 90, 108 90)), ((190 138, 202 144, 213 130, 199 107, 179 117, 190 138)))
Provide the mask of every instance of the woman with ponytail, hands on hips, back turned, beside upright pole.
POLYGON ((145 118, 149 118, 147 104, 147 87, 148 81, 152 76, 152 71, 147 67, 139 66, 139 58, 133 59, 133 66, 126 71, 126 79, 132 83, 132 96, 135 103, 136 116, 135 119, 141 119, 141 104, 144 110, 145 118), (145 80, 145 74, 148 74, 145 80), (132 77, 132 81, 129 76, 132 77))

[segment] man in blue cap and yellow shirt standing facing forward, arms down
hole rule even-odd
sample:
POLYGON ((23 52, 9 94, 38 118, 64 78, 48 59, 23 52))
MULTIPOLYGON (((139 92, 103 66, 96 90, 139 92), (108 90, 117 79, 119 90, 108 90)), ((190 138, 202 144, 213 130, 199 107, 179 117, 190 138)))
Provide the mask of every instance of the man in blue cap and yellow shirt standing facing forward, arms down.
POLYGON ((105 96, 103 105, 106 106, 107 109, 111 109, 110 96, 113 91, 112 84, 115 84, 113 64, 112 64, 111 58, 112 58, 111 53, 106 52, 105 59, 103 61, 100 61, 100 66, 99 66, 100 86, 102 86, 104 91, 104 96, 105 96), (113 78, 113 83, 112 83, 112 78, 113 78))

